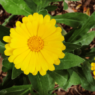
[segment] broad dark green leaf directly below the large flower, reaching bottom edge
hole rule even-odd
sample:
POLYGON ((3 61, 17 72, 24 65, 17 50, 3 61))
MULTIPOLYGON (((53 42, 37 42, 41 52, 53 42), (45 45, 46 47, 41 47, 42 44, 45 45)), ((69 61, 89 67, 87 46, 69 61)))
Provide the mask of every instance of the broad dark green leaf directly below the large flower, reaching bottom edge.
POLYGON ((28 77, 33 88, 39 92, 39 95, 47 95, 54 88, 54 81, 48 74, 45 76, 29 74, 28 77))

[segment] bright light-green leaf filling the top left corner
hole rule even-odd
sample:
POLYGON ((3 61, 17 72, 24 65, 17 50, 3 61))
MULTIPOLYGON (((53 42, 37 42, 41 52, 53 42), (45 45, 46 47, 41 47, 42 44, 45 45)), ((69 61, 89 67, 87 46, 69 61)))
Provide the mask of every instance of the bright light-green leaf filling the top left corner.
POLYGON ((0 4, 8 13, 14 15, 28 16, 32 13, 24 0, 0 0, 0 4))

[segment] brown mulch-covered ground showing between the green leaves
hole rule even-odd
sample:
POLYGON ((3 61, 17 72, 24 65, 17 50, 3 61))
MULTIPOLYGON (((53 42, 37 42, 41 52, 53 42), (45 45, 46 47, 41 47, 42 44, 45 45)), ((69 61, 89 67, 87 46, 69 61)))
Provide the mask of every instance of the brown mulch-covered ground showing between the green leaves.
MULTIPOLYGON (((63 9, 63 3, 62 2, 58 2, 58 3, 51 3, 51 5, 56 5, 58 6, 58 8, 55 11, 51 11, 49 12, 52 16, 55 15, 60 15, 60 14, 64 14, 64 13, 70 13, 70 12, 81 12, 81 13, 85 13, 87 15, 91 15, 94 11, 95 11, 95 0, 80 0, 77 2, 71 2, 68 0, 65 0, 66 3, 68 4, 68 9, 64 10, 63 9)), ((2 5, 0 5, 0 24, 3 24, 4 20, 6 18, 8 18, 11 14, 7 13, 2 5)), ((15 15, 9 23, 6 24, 6 27, 15 27, 15 22, 16 21, 21 21, 23 16, 18 16, 15 15)), ((67 25, 61 24, 61 26, 67 31, 69 32, 72 27, 69 27, 67 25)), ((95 29, 93 29, 95 30, 95 29)), ((95 47, 95 39, 91 42, 91 44, 89 45, 90 48, 95 47)), ((2 78, 6 76, 6 73, 2 72, 2 58, 0 57, 0 83, 2 82, 2 78)), ((55 85, 55 87, 57 87, 58 85, 55 85)), ((90 91, 86 91, 84 90, 80 85, 77 86, 71 86, 67 91, 64 91, 63 89, 58 89, 55 90, 54 93, 57 93, 57 95, 95 95, 95 92, 90 92, 90 91)))

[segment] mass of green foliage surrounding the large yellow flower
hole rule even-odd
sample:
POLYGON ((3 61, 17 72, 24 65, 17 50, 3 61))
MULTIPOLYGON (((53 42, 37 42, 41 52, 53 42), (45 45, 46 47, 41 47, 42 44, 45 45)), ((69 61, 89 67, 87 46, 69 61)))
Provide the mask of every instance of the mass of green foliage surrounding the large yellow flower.
MULTIPOLYGON (((65 0, 0 0, 0 3, 12 15, 28 16, 38 12, 45 16, 48 11, 57 8, 51 6, 50 3, 58 1, 64 1, 64 9, 67 9, 65 0)), ((2 71, 8 73, 3 79, 3 83, 0 84, 0 95, 27 95, 27 93, 52 95, 55 82, 64 90, 67 90, 71 85, 78 84, 89 91, 95 90, 95 80, 90 70, 90 63, 94 61, 95 57, 95 48, 86 50, 95 37, 95 31, 88 32, 95 26, 95 12, 90 17, 83 13, 66 13, 51 16, 51 18, 56 19, 57 23, 71 26, 73 29, 64 35, 66 39, 63 42, 66 45, 65 58, 60 60, 60 65, 55 66, 55 71, 48 71, 45 76, 40 74, 26 76, 20 69, 16 69, 13 63, 8 62, 8 57, 4 55, 5 43, 2 38, 9 35, 9 28, 4 26, 6 23, 3 26, 0 25, 2 71), (87 60, 85 57, 90 57, 90 59, 87 60)))

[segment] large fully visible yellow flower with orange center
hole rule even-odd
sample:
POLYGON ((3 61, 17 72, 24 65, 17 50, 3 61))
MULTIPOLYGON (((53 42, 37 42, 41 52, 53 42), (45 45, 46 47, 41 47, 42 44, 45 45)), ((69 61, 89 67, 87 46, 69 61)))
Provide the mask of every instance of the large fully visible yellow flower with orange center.
POLYGON ((10 36, 3 37, 9 62, 25 74, 45 75, 47 70, 55 70, 54 64, 60 64, 59 58, 64 58, 62 51, 66 49, 62 29, 55 24, 56 20, 49 15, 43 17, 38 13, 23 17, 22 23, 17 21, 10 36))

